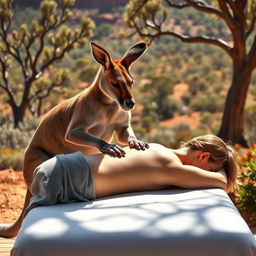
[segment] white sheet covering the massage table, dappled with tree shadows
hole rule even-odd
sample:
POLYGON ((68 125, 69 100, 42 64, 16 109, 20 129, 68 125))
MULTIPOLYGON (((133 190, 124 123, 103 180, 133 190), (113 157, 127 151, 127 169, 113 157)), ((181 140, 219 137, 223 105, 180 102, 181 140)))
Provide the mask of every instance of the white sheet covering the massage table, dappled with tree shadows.
POLYGON ((255 256, 221 189, 130 193, 31 210, 12 256, 255 256))

